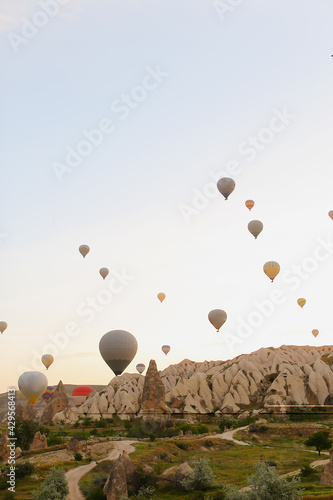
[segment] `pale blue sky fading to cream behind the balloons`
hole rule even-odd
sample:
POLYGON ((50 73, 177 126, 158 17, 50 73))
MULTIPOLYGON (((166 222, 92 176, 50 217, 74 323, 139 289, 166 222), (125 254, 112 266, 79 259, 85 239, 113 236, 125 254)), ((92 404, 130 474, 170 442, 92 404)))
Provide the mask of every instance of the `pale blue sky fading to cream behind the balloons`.
POLYGON ((38 17, 43 0, 0 0, 0 320, 8 323, 0 390, 16 384, 18 367, 36 369, 49 334, 69 322, 80 333, 58 348, 51 384, 107 384, 98 342, 118 328, 139 342, 130 371, 151 358, 163 369, 185 357, 331 344, 331 250, 295 289, 290 270, 310 266, 318 238, 333 238, 332 3, 249 0, 221 19, 213 1, 53 1, 51 18, 38 17), (45 26, 15 51, 23 18, 45 26), (112 105, 156 68, 161 81, 121 119, 112 105), (249 161, 239 148, 277 113, 292 117, 249 161), (113 132, 60 182, 54 163, 106 118, 113 132), (185 220, 194 190, 231 161, 228 202, 217 193, 185 220), (247 198, 256 201, 251 213, 247 198), (247 224, 257 218, 264 230, 254 240, 247 224), (281 265, 273 285, 267 260, 281 265), (107 287, 100 267, 133 279, 87 322, 77 308, 107 287), (273 289, 283 303, 248 338, 230 340, 273 289), (214 308, 228 314, 220 334, 207 320, 214 308))

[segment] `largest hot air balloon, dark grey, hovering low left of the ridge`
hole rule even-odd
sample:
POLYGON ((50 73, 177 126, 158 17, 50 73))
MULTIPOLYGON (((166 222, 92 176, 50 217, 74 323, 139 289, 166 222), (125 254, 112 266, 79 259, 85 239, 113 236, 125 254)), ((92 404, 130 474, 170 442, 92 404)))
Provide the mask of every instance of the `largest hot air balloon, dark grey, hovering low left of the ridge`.
POLYGON ((136 338, 125 330, 112 330, 103 335, 99 342, 101 356, 115 375, 123 373, 137 350, 136 338))

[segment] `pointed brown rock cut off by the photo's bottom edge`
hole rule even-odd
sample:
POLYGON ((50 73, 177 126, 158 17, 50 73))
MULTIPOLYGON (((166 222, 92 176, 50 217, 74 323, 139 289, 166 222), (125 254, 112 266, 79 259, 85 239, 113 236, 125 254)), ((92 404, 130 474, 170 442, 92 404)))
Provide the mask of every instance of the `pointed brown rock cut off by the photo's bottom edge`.
POLYGON ((120 500, 135 493, 139 486, 139 478, 126 451, 113 463, 110 476, 104 486, 107 500, 120 500))

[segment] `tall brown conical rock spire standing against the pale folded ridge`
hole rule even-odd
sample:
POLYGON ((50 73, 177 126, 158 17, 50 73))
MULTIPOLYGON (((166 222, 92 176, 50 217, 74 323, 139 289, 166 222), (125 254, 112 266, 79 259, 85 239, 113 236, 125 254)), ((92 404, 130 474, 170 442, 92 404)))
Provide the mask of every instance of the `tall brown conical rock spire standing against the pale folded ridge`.
POLYGON ((140 413, 170 412, 165 404, 165 387, 157 371, 156 361, 150 360, 141 397, 140 413))

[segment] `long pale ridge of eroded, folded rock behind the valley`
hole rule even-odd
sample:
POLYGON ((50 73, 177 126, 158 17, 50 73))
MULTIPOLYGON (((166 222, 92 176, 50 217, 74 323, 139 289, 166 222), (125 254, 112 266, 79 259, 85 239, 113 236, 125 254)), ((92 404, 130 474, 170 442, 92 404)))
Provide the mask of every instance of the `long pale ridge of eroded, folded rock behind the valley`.
MULTIPOLYGON (((281 346, 262 348, 228 361, 196 363, 185 359, 162 372, 155 370, 154 377, 158 378, 155 384, 160 380, 164 385, 166 413, 210 413, 216 409, 227 413, 253 404, 330 404, 332 367, 333 346, 281 346)), ((148 404, 142 397, 144 382, 145 377, 139 374, 115 377, 75 410, 73 420, 84 414, 99 419, 114 413, 138 413, 143 401, 148 404)), ((149 403, 152 409, 154 404, 149 403)), ((156 408, 161 410, 161 405, 156 408)), ((71 418, 68 412, 58 416, 71 418)))

